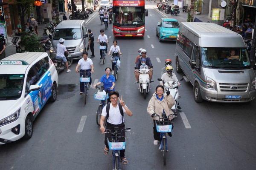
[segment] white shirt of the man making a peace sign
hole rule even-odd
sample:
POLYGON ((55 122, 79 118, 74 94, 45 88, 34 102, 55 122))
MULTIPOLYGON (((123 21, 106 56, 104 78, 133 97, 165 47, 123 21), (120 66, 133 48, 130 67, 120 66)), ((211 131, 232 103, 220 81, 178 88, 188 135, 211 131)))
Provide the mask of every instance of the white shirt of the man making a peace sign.
MULTIPOLYGON (((122 109, 125 114, 125 108, 122 107, 122 109)), ((103 107, 102 115, 105 117, 107 116, 107 105, 103 107)), ((110 124, 122 124, 122 115, 119 110, 118 102, 116 107, 113 107, 112 103, 110 104, 107 122, 110 124)), ((124 118, 123 118, 123 122, 125 122, 124 118)))

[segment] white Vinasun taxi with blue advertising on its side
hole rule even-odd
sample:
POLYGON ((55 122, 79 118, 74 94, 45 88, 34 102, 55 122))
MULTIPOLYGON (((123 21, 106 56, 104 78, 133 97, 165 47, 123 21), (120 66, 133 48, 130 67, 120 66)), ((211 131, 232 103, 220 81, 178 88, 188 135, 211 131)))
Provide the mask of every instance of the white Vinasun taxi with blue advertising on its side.
POLYGON ((46 52, 0 60, 0 144, 29 139, 47 100, 57 98, 58 74, 46 52))

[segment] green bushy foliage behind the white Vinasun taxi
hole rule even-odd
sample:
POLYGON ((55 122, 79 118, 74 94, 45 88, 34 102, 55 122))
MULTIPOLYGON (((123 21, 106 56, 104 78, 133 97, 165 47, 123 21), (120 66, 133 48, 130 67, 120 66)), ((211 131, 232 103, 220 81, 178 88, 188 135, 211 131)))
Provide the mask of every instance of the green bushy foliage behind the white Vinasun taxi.
POLYGON ((27 52, 44 52, 44 46, 41 44, 41 37, 36 34, 23 35, 20 37, 20 46, 27 52))

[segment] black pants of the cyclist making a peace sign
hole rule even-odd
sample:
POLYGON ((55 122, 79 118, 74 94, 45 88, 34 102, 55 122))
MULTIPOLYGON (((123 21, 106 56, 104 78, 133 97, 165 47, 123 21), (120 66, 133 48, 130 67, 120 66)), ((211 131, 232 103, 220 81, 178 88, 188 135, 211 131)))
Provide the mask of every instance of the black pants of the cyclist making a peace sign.
MULTIPOLYGON (((107 123, 106 129, 111 130, 111 132, 114 132, 114 127, 119 127, 118 132, 121 132, 122 129, 125 129, 125 124, 124 123, 122 123, 122 124, 107 123)), ((122 137, 125 137, 125 132, 123 131, 121 135, 122 135, 122 137)), ((108 147, 108 137, 111 137, 111 133, 106 133, 105 134, 105 145, 109 149, 109 147, 108 147)), ((124 138, 122 138, 122 139, 124 139, 124 138)), ((120 150, 120 157, 121 158, 125 157, 125 150, 120 150)))

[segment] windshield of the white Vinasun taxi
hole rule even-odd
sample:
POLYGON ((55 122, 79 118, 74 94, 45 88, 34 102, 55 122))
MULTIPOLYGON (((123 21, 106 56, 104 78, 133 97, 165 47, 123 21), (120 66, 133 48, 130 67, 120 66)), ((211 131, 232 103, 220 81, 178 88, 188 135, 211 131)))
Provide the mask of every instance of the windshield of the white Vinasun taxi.
POLYGON ((0 75, 0 100, 13 100, 21 96, 24 75, 0 75))

